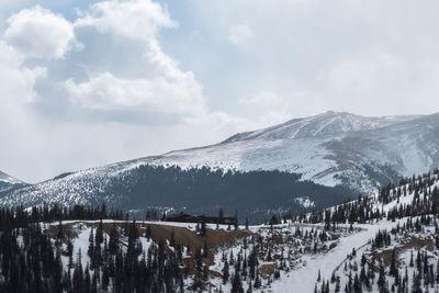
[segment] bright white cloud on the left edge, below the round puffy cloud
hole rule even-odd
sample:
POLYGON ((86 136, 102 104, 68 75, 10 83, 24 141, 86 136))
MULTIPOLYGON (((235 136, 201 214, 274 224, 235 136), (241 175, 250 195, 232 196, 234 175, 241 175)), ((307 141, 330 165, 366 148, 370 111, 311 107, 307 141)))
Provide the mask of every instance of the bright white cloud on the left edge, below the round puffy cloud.
POLYGON ((35 120, 30 105, 38 99, 34 90, 36 81, 45 76, 45 68, 26 68, 23 56, 0 41, 0 161, 11 167, 12 174, 25 170, 30 162, 22 160, 25 154, 33 156, 35 120))

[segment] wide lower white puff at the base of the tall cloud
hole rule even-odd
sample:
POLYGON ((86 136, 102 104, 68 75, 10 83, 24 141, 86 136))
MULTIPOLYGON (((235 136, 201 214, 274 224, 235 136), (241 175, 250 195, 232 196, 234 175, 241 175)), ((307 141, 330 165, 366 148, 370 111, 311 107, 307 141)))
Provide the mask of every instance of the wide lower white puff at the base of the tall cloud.
POLYGON ((104 72, 81 83, 68 80, 65 87, 74 103, 91 110, 136 110, 183 117, 205 111, 201 87, 190 72, 172 79, 121 79, 104 72))

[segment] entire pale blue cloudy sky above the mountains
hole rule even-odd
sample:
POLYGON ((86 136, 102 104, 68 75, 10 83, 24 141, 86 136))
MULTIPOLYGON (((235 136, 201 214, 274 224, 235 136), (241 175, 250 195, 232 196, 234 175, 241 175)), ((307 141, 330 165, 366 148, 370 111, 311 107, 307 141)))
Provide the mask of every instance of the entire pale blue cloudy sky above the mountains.
POLYGON ((0 170, 38 182, 328 110, 439 112, 438 9, 2 0, 0 170))

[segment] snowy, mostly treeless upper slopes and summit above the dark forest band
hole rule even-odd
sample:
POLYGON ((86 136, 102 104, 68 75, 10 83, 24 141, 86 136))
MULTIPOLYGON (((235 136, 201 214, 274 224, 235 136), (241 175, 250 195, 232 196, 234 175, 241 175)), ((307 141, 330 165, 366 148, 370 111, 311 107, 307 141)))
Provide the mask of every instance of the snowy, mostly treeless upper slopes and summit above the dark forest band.
POLYGON ((185 168, 284 170, 324 185, 372 192, 401 176, 438 166, 438 133, 439 114, 364 117, 326 112, 143 160, 185 168))

